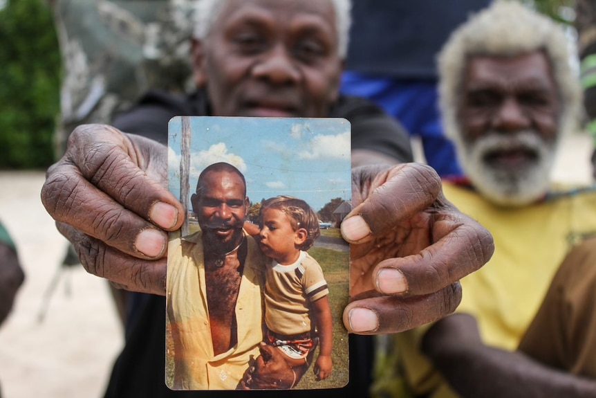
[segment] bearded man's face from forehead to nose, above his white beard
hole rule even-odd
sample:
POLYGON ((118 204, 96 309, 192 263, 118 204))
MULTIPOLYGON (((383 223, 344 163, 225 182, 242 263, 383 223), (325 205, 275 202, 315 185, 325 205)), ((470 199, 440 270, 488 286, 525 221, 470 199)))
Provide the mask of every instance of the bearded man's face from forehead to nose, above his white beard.
POLYGON ((477 56, 467 64, 458 120, 474 142, 490 129, 535 129, 545 141, 558 135, 561 101, 542 51, 517 57, 477 56))

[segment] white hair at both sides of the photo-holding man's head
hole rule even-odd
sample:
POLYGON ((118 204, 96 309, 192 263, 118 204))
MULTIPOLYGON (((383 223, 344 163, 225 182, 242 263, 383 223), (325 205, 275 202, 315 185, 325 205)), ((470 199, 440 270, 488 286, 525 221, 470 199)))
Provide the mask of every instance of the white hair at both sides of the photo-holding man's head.
MULTIPOLYGON (((300 1, 300 0, 296 0, 300 1)), ((351 0, 330 0, 335 10, 335 28, 337 29, 337 53, 342 59, 348 53, 348 37, 351 24, 351 0)), ((217 20, 225 0, 198 0, 194 10, 194 37, 205 39, 217 20)))

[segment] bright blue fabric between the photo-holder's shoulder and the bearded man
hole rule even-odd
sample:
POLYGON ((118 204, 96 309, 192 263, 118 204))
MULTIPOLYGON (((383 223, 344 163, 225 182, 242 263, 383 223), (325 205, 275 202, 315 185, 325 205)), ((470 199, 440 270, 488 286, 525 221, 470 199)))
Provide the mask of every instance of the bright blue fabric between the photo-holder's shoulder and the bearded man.
POLYGON ((379 75, 346 71, 342 93, 377 103, 407 129, 419 136, 427 163, 441 177, 461 176, 453 143, 440 124, 435 80, 397 80, 379 75))

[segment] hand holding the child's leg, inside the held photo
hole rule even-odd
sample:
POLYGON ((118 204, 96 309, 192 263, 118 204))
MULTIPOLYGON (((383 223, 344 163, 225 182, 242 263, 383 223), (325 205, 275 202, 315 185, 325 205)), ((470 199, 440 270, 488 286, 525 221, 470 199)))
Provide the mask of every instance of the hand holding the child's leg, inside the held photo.
POLYGON ((261 355, 254 361, 239 384, 239 390, 292 388, 304 374, 304 367, 290 368, 276 347, 261 343, 261 355))

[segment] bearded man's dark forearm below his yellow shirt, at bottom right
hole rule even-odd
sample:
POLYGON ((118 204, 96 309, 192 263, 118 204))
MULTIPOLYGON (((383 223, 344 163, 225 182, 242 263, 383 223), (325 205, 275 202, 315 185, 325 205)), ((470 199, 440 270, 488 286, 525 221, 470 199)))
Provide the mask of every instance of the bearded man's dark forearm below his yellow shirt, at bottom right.
POLYGON ((431 327, 422 350, 462 397, 596 397, 593 379, 549 368, 523 352, 485 345, 476 320, 467 314, 431 327))

